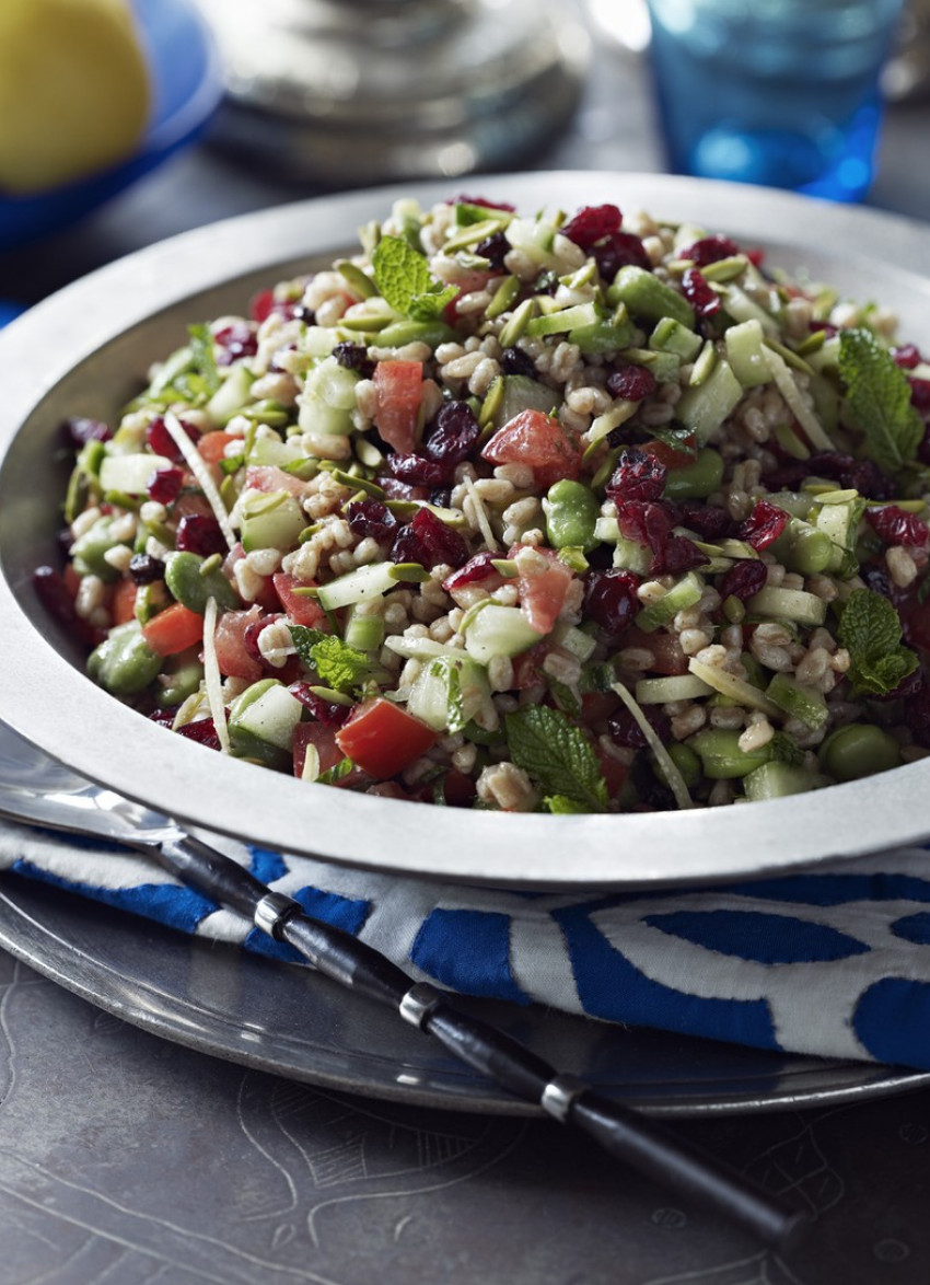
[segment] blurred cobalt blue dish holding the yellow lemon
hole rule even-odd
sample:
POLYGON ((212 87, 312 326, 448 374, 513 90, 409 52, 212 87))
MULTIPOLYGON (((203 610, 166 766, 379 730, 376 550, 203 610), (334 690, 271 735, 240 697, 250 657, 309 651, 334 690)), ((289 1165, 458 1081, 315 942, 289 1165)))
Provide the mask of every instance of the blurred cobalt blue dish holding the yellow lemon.
MULTIPOLYGON (((134 0, 149 53, 152 118, 128 161, 35 197, 0 197, 0 251, 57 231, 191 143, 222 94, 220 58, 194 0, 134 0)), ((9 317, 6 319, 9 320, 9 317)))

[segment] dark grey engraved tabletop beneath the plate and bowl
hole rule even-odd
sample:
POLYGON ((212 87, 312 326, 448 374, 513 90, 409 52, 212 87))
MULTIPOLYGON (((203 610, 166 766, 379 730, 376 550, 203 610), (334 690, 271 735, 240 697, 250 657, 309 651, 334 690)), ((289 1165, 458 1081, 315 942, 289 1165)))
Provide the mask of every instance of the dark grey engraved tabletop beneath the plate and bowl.
MULTIPOLYGON (((929 162, 930 100, 897 105, 870 203, 930 220, 929 162)), ((641 66, 601 44, 570 131, 528 166, 659 170, 641 66)), ((0 297, 31 303, 176 231, 312 194, 204 144, 0 254, 0 297)), ((126 1025, 0 952, 0 1285, 930 1280, 930 1092, 674 1127, 809 1210, 804 1248, 784 1261, 555 1124, 292 1085, 126 1025)))

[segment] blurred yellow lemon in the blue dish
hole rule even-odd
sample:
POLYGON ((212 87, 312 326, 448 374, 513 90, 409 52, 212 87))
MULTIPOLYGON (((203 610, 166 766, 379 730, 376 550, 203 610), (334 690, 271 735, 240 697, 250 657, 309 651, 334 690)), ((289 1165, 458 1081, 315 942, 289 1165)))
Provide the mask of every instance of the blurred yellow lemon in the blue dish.
POLYGON ((126 0, 0 0, 0 189, 42 191, 121 161, 149 103, 126 0))

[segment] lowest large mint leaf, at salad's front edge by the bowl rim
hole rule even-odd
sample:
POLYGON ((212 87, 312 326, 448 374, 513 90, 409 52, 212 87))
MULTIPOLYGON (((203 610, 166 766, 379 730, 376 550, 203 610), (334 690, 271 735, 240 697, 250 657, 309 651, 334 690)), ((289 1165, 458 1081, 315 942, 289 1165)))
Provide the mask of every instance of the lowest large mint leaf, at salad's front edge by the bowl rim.
POLYGON ((510 758, 546 795, 564 797, 586 812, 604 812, 608 788, 591 743, 561 711, 527 705, 506 716, 510 758))

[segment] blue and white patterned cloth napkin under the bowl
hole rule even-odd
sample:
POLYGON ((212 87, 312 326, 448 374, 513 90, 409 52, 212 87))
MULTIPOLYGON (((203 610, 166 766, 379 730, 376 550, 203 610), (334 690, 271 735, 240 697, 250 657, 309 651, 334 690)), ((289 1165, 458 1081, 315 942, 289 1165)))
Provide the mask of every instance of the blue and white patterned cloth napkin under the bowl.
MULTIPOLYGON (((709 889, 579 896, 452 887, 211 842, 419 980, 930 1070, 930 848, 709 889)), ((8 825, 3 869, 297 962, 145 857, 8 825)))

